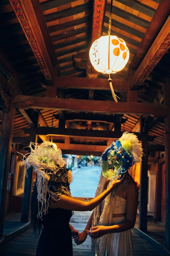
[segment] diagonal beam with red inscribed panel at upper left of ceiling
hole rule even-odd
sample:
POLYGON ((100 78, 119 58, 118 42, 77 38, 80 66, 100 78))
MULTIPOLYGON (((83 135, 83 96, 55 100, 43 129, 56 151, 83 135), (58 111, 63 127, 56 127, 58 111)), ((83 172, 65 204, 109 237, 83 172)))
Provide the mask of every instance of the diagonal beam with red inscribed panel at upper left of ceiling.
POLYGON ((47 80, 54 81, 55 52, 38 0, 10 0, 24 34, 47 80))

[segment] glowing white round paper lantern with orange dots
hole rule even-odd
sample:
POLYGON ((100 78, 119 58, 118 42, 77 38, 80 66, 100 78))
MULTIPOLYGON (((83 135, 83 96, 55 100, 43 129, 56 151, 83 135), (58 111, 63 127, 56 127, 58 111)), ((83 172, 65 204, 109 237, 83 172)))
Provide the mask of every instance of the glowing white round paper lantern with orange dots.
POLYGON ((116 73, 121 71, 128 62, 129 49, 123 39, 116 37, 116 35, 105 35, 92 43, 89 57, 96 71, 104 74, 116 73))

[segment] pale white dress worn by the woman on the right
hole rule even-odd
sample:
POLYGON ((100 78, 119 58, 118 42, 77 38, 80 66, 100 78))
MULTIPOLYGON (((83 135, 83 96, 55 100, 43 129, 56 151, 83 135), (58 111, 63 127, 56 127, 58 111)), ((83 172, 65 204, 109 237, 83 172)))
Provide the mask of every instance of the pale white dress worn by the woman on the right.
MULTIPOLYGON (((117 195, 111 198, 114 201, 113 214, 126 213, 126 199, 117 195)), ((113 210, 110 208, 109 210, 113 210)), ((125 217, 113 217, 110 226, 123 222, 125 217)), ((101 223, 102 225, 102 223, 101 223)), ((92 246, 92 256, 132 256, 132 232, 126 230, 119 233, 109 233, 95 239, 92 246)))

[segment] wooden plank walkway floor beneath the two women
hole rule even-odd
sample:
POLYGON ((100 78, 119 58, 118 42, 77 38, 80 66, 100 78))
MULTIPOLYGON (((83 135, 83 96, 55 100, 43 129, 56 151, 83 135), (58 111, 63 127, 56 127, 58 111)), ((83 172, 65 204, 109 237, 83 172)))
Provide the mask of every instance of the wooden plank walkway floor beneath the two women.
MULTIPOLYGON (((88 221, 91 212, 74 212, 70 223, 79 231, 82 231, 88 221)), ((13 216, 14 222, 18 216, 13 216)), ((17 224, 19 225, 19 224, 17 224)), ((6 232, 11 230, 10 225, 5 224, 6 232)), ((168 252, 162 251, 154 244, 149 243, 145 237, 142 238, 136 232, 133 233, 133 256, 164 256, 170 255, 168 252)), ((34 236, 32 228, 21 233, 19 236, 0 247, 1 256, 33 256, 36 253, 36 247, 39 237, 34 236)), ((67 255, 66 255, 67 256, 67 255)), ((76 245, 73 241, 73 256, 91 256, 91 238, 88 236, 86 241, 81 245, 76 245)), ((111 255, 112 256, 112 255, 111 255)))

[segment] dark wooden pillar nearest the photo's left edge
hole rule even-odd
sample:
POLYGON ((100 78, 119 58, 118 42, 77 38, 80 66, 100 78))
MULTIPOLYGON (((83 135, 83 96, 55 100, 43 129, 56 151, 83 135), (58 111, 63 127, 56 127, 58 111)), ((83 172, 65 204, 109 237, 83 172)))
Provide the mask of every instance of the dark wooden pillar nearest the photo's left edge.
MULTIPOLYGON (((5 94, 4 94, 5 95, 5 94)), ((3 109, 3 119, 0 136, 0 236, 3 235, 3 223, 5 214, 5 201, 8 173, 10 169, 11 146, 13 138, 13 124, 15 108, 13 96, 5 96, 6 107, 3 109)))

